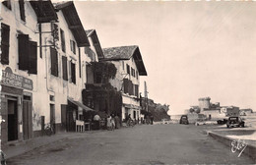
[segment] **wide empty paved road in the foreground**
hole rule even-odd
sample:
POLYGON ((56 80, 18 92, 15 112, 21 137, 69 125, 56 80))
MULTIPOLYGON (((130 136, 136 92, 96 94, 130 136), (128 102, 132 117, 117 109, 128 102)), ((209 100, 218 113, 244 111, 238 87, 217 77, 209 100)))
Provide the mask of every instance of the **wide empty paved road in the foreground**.
POLYGON ((144 125, 87 132, 14 157, 8 165, 255 164, 193 125, 144 125))

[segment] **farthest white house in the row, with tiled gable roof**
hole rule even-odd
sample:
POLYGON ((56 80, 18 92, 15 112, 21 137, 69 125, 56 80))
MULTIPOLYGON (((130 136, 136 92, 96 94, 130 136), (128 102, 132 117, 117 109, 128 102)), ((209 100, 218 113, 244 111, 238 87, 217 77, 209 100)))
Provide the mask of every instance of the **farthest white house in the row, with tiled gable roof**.
POLYGON ((132 119, 140 119, 140 76, 147 76, 147 71, 139 46, 103 48, 103 53, 104 59, 99 61, 111 62, 117 69, 115 78, 109 82, 121 92, 121 119, 124 120, 129 114, 132 119))

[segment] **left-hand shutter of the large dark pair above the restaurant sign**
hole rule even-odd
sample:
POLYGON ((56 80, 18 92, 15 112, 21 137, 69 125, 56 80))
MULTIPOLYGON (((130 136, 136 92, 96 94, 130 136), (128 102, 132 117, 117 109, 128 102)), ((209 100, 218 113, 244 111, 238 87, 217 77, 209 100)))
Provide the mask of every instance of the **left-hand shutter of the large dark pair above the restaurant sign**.
POLYGON ((28 61, 29 59, 29 35, 27 34, 19 34, 18 35, 18 47, 19 47, 19 70, 29 70, 30 69, 30 63, 28 61))

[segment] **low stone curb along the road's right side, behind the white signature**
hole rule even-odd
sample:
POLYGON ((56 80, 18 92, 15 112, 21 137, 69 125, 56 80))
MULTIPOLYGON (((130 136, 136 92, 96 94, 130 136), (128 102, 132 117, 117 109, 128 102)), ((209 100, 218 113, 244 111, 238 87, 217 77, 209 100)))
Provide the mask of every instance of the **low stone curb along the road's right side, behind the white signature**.
MULTIPOLYGON (((235 140, 235 138, 227 138, 225 136, 222 136, 220 134, 211 132, 211 131, 206 131, 207 135, 216 138, 220 142, 224 143, 225 145, 229 146, 231 149, 231 142, 235 140)), ((247 144, 246 148, 243 150, 243 153, 246 155, 250 156, 255 162, 256 162, 256 146, 247 144)))

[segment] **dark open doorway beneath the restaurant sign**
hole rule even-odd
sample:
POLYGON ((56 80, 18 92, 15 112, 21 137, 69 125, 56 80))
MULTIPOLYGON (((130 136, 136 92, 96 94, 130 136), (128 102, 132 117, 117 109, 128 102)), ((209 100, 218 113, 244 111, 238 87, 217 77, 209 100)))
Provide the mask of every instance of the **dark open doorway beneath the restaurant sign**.
POLYGON ((17 100, 8 100, 8 140, 18 139, 18 107, 17 100))

